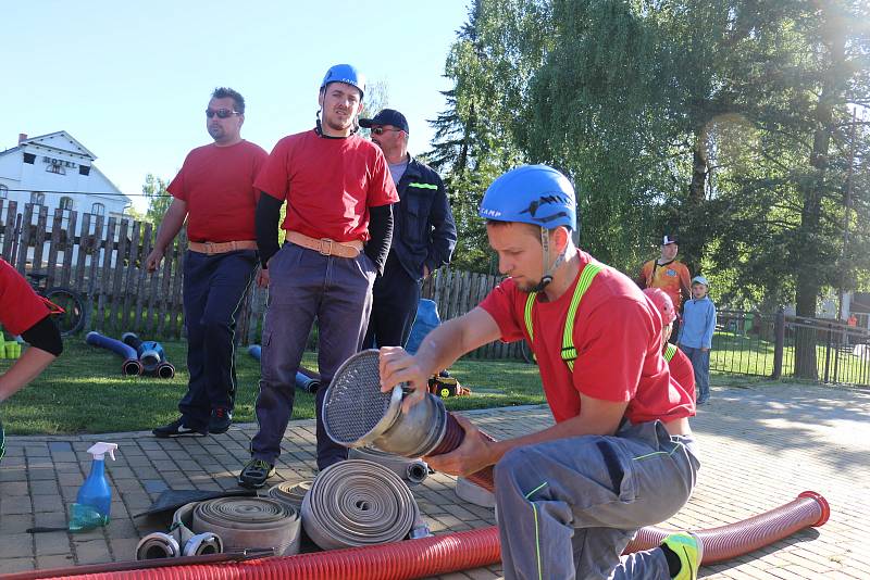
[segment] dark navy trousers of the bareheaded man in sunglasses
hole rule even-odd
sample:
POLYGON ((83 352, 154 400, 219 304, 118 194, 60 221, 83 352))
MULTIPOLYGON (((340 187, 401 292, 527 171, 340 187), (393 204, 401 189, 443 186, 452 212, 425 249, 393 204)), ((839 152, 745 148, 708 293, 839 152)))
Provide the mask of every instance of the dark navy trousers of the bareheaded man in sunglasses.
POLYGON ((236 313, 253 280, 257 252, 184 259, 184 320, 190 380, 178 411, 190 428, 206 427, 214 408, 233 411, 236 401, 236 313))

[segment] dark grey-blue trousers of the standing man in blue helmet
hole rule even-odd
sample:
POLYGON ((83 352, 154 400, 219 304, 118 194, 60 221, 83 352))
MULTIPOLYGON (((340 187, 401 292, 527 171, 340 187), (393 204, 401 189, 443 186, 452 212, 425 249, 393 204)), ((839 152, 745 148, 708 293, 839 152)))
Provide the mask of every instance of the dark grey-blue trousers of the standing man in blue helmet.
POLYGON ((347 458, 347 449, 323 428, 323 393, 338 367, 359 351, 372 311, 376 268, 364 253, 355 259, 326 256, 285 244, 269 263, 269 304, 263 320, 260 393, 256 413, 260 430, 251 455, 274 464, 293 414, 296 371, 318 319, 318 369, 321 388, 318 418, 318 467, 347 458))

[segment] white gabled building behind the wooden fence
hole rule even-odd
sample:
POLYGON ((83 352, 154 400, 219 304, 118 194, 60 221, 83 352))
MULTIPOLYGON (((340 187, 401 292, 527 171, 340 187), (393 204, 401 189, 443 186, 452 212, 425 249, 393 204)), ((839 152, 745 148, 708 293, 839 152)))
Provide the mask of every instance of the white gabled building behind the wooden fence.
MULTIPOLYGON (((97 156, 66 131, 39 137, 18 136, 18 144, 0 151, 0 198, 48 207, 49 223, 57 207, 121 217, 132 205, 95 165, 97 156)), ((80 219, 79 219, 80 223, 80 219)))

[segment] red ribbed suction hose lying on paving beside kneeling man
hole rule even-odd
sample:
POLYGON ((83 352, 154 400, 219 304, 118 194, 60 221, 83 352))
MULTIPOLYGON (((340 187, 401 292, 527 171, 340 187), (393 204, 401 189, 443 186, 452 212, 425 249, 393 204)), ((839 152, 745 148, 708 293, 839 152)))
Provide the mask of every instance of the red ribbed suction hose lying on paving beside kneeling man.
MULTIPOLYGON (((787 538, 796 530, 823 525, 830 509, 828 502, 815 492, 804 492, 788 504, 737 521, 722 528, 700 530, 695 533, 705 538, 704 564, 721 562, 729 557, 748 554, 754 550, 787 538), (707 544, 710 545, 708 552, 707 544), (725 545, 739 546, 739 553, 725 545)), ((642 537, 644 528, 638 533, 642 537)), ((664 533, 666 530, 656 529, 664 533)), ((656 540, 654 540, 655 542, 656 540)), ((658 545, 637 545, 629 551, 646 550, 658 545)), ((289 557, 265 558, 257 562, 225 562, 208 565, 170 566, 152 569, 129 570, 129 563, 114 563, 117 571, 89 575, 88 580, 254 580, 260 578, 304 578, 306 580, 394 580, 426 578, 458 570, 490 566, 499 562, 498 528, 490 526, 477 530, 445 535, 408 540, 395 544, 351 547, 289 557)), ((141 563, 145 568, 146 563, 141 563)), ((162 563, 161 563, 162 564, 162 563)), ((105 568, 111 565, 100 565, 105 568)), ((39 578, 64 578, 77 573, 77 567, 55 570, 20 572, 3 577, 4 580, 35 580, 39 578)), ((85 577, 77 577, 79 579, 85 577)))

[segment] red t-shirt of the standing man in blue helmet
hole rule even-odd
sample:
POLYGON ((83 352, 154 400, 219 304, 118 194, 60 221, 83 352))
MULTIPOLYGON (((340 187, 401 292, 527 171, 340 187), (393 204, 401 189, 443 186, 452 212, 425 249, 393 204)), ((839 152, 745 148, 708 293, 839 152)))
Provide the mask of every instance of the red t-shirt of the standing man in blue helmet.
POLYGON ((269 155, 257 189, 287 200, 282 227, 339 242, 369 239, 369 207, 399 201, 381 149, 362 137, 285 137, 269 155))

